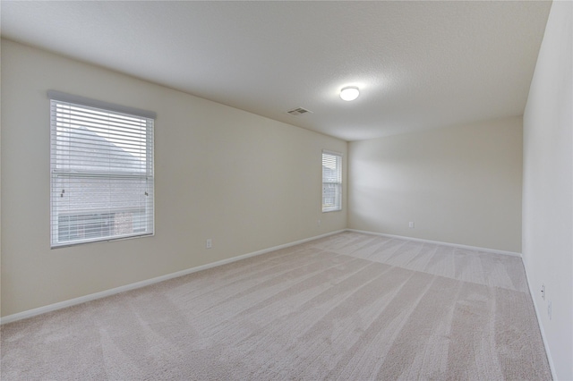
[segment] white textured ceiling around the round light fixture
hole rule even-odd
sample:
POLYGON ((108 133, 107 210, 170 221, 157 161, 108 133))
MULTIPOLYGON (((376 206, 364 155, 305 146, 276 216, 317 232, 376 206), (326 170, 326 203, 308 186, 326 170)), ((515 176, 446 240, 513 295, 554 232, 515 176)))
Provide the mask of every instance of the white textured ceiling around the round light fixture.
POLYGON ((4 38, 363 140, 523 114, 551 3, 4 0, 1 7, 4 38), (354 102, 338 97, 347 85, 361 89, 354 102), (295 107, 312 114, 286 114, 295 107))

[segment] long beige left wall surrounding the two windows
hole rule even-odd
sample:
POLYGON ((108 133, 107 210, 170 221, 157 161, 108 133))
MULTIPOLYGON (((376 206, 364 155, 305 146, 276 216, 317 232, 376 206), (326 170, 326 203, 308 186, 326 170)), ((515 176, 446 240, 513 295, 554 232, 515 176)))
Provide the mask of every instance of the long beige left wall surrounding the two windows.
POLYGON ((346 228, 346 202, 321 213, 323 148, 346 157, 343 140, 3 40, 2 315, 346 228), (155 236, 50 250, 48 89, 157 112, 155 236))

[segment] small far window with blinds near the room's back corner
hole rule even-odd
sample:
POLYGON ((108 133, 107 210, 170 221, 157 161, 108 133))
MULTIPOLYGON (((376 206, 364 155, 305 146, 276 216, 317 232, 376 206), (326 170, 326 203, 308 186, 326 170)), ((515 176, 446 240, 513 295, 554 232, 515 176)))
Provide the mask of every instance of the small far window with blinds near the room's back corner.
POLYGON ((342 155, 322 151, 322 211, 342 210, 342 155))

